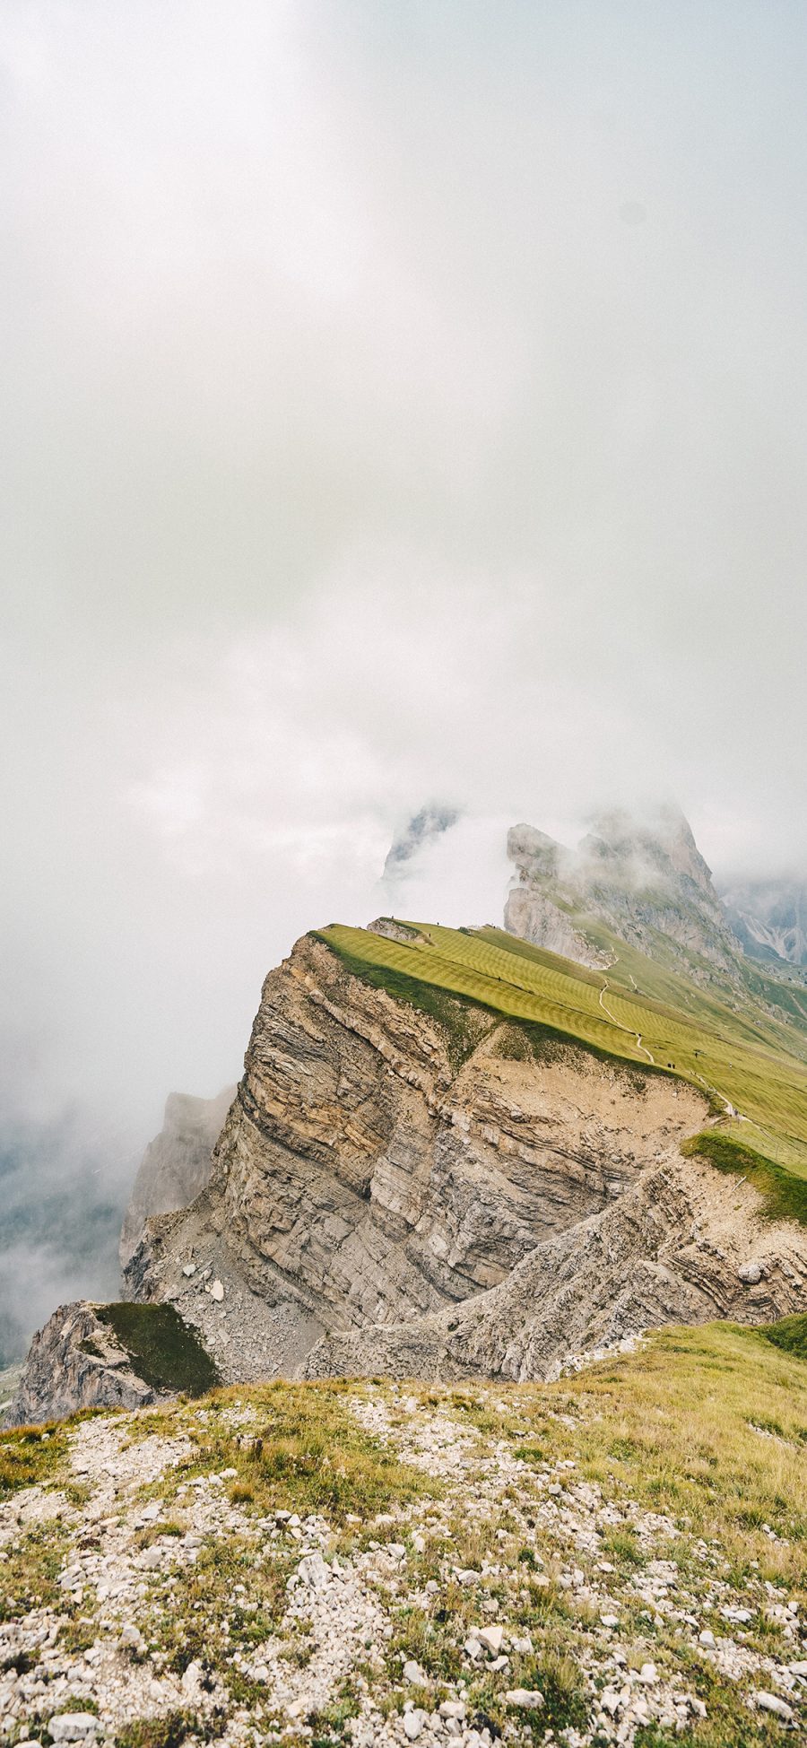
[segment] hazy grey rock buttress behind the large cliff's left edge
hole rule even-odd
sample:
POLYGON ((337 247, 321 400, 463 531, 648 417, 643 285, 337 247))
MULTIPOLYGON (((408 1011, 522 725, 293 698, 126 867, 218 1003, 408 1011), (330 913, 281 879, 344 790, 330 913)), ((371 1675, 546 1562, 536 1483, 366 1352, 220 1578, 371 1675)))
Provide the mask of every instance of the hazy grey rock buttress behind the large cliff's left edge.
POLYGON ((231 1108, 234 1087, 217 1098, 169 1092, 161 1133, 140 1162, 121 1229, 121 1264, 140 1243, 145 1222, 155 1213, 187 1208, 210 1178, 213 1147, 231 1108))

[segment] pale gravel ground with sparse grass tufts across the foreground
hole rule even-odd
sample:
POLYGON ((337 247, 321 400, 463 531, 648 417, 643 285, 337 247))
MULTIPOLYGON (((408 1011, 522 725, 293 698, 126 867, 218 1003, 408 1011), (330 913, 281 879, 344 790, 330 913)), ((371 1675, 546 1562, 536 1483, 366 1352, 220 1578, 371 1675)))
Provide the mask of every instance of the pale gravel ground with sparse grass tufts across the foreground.
MULTIPOLYGON (((379 1381, 341 1402, 423 1475, 421 1498, 353 1523, 257 1512, 236 1467, 204 1468, 204 1405, 80 1421, 68 1470, 0 1509, 0 1577, 21 1598, 0 1626, 0 1739, 807 1739, 798 1598, 732 1577, 720 1533, 683 1561, 671 1516, 606 1496, 573 1458, 519 1454, 515 1390, 379 1381), (748 1736, 704 1734, 713 1694, 732 1696, 748 1736)), ((248 1453, 250 1391, 231 1393, 222 1425, 248 1453)))

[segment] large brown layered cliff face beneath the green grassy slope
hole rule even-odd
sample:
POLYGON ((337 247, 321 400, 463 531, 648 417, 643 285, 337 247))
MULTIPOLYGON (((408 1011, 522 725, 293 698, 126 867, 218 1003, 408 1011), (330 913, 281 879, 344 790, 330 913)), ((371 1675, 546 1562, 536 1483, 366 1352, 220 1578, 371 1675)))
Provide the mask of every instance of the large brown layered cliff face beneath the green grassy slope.
POLYGON ((147 1224, 128 1295, 175 1301, 231 1379, 540 1377, 650 1323, 804 1309, 807 1234, 681 1159, 693 1089, 440 1014, 304 937, 266 979, 210 1183, 147 1224))

